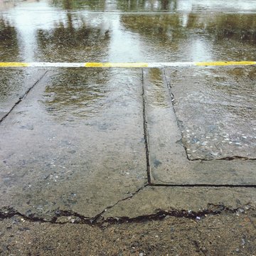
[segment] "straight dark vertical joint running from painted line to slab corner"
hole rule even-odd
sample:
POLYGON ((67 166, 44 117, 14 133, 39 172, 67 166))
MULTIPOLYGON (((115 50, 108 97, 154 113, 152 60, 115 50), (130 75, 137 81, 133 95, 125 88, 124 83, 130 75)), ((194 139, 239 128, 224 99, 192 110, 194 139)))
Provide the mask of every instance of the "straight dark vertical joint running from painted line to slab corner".
POLYGON ((144 86, 144 69, 142 68, 142 104, 143 104, 143 122, 144 122, 144 142, 146 148, 146 174, 148 178, 148 183, 151 185, 150 176, 150 164, 149 164, 149 136, 146 122, 146 98, 145 98, 145 86, 144 86))

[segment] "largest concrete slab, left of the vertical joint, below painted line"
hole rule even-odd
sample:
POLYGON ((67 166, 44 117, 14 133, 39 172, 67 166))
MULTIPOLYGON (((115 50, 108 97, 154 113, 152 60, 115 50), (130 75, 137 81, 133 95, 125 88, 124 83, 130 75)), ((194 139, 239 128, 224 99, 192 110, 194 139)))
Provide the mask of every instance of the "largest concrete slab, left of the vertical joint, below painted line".
POLYGON ((144 186, 141 70, 49 71, 0 125, 0 205, 92 217, 144 186))

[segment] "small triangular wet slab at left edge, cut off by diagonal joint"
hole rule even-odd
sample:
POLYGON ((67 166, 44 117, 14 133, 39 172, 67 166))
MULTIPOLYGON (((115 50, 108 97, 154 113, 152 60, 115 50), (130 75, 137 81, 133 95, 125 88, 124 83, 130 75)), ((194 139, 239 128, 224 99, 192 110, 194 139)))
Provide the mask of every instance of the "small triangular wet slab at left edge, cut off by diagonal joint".
POLYGON ((44 73, 46 70, 37 68, 1 68, 0 120, 26 95, 29 88, 42 78, 44 73))

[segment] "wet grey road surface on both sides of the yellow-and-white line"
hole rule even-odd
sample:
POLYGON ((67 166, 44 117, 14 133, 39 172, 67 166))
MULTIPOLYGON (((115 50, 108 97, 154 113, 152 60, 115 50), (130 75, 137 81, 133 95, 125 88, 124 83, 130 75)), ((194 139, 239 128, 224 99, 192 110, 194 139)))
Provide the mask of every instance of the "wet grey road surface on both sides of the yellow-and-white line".
MULTIPOLYGON (((0 9, 0 62, 256 60, 252 1, 0 9)), ((148 183, 256 185, 255 71, 1 68, 1 207, 92 218, 148 183)))

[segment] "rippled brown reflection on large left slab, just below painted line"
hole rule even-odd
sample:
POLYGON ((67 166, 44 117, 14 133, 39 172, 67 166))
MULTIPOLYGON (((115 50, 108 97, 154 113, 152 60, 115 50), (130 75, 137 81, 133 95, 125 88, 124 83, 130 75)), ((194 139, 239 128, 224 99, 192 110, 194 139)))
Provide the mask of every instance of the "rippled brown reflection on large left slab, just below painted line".
POLYGON ((94 117, 106 108, 109 73, 107 70, 58 70, 50 77, 43 103, 48 114, 60 122, 94 117))

